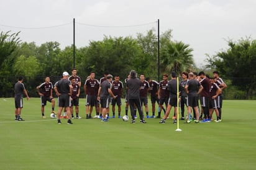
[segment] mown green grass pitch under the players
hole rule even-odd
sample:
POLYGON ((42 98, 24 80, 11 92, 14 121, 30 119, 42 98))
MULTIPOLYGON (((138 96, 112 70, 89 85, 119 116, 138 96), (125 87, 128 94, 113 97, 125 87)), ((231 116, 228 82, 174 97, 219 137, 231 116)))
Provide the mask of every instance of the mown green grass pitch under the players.
POLYGON ((39 98, 24 101, 24 122, 14 99, 0 106, 0 169, 256 169, 255 101, 224 101, 221 123, 180 121, 182 132, 170 119, 87 120, 85 99, 73 125, 50 119, 49 103, 43 120, 39 98))

